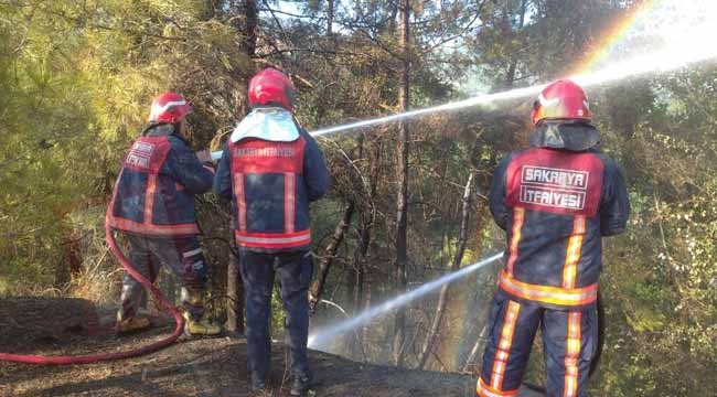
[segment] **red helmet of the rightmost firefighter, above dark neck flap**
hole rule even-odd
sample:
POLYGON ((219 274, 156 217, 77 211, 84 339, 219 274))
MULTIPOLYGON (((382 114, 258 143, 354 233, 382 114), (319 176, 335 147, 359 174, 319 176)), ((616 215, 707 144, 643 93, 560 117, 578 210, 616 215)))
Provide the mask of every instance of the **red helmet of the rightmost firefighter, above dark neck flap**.
POLYGON ((588 96, 582 88, 569 79, 550 83, 533 104, 531 119, 537 126, 543 120, 582 119, 590 120, 592 114, 588 96))

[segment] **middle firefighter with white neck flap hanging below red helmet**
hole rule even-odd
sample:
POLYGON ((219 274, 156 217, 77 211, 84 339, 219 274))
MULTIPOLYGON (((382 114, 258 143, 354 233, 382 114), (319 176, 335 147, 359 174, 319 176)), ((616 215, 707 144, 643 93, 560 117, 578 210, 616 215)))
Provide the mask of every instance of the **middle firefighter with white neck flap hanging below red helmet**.
POLYGON ((232 202, 246 301, 250 388, 266 388, 271 343, 274 279, 281 283, 291 395, 311 384, 307 358, 308 290, 313 273, 309 203, 329 189, 323 154, 291 114, 295 88, 281 72, 267 68, 249 82, 252 111, 226 142, 214 192, 232 202))

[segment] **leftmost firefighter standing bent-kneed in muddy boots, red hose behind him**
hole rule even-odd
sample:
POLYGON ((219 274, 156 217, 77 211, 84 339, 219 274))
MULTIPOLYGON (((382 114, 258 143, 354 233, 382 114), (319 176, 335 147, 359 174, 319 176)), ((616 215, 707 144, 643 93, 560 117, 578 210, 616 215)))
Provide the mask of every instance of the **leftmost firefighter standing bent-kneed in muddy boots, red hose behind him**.
MULTIPOLYGON (((221 329, 202 320, 207 265, 197 239, 194 208, 194 195, 212 189, 214 169, 208 152, 193 153, 182 136, 191 111, 176 93, 154 98, 149 126, 122 163, 107 223, 124 232, 132 267, 149 281, 154 282, 162 264, 182 280, 185 333, 214 335, 221 329)), ((139 281, 125 276, 117 313, 119 333, 150 326, 148 318, 138 315, 146 294, 139 281)))

